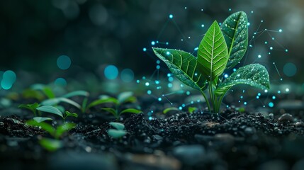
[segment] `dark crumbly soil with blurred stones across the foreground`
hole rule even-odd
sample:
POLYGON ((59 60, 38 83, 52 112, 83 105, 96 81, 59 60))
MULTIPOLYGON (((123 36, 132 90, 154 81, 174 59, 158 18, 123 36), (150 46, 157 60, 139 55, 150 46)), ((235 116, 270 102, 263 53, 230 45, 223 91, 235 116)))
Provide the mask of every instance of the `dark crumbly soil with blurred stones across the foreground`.
MULTIPOLYGON (((0 113, 3 111, 0 111, 0 113)), ((47 152, 30 113, 0 117, 0 169, 303 169, 304 123, 300 115, 240 113, 125 114, 128 134, 107 135, 113 117, 80 114, 64 147, 47 152)), ((55 122, 56 123, 56 122, 55 122)), ((58 121, 57 123, 60 123, 58 121)))

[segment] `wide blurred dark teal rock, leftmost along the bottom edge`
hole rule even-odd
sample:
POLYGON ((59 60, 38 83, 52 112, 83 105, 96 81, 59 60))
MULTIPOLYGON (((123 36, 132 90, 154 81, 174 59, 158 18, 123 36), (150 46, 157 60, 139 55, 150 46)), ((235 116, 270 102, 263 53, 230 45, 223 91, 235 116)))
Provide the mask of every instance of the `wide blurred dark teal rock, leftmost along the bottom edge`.
POLYGON ((112 154, 91 154, 86 152, 56 152, 48 159, 50 169, 118 169, 116 158, 112 154))

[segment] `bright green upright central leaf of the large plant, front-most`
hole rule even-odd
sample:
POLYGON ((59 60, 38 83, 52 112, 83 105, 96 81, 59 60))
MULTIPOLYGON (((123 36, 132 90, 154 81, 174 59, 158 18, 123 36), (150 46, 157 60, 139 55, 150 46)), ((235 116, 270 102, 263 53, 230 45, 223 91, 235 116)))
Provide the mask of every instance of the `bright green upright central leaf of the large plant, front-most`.
POLYGON ((223 74, 228 58, 225 38, 218 22, 214 21, 198 46, 198 69, 208 81, 213 82, 223 74))

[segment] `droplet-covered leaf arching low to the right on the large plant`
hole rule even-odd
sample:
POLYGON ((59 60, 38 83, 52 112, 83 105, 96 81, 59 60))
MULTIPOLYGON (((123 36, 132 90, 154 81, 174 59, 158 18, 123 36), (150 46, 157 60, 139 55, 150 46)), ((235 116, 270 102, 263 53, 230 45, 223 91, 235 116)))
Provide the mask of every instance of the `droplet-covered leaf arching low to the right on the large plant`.
POLYGON ((240 67, 240 69, 237 69, 236 72, 225 79, 223 84, 218 86, 218 89, 215 90, 215 95, 225 95, 230 87, 236 84, 248 84, 259 89, 269 89, 269 74, 261 64, 249 64, 240 67))

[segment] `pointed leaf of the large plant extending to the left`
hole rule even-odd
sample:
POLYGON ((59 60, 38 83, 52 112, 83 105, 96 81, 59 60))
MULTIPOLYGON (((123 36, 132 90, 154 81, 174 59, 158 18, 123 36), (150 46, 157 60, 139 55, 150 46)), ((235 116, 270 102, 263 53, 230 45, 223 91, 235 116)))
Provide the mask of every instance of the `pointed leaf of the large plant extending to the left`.
POLYGON ((199 91, 205 89, 206 79, 197 69, 196 57, 182 50, 153 48, 153 51, 181 82, 199 91))

